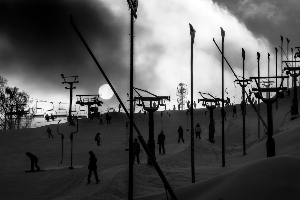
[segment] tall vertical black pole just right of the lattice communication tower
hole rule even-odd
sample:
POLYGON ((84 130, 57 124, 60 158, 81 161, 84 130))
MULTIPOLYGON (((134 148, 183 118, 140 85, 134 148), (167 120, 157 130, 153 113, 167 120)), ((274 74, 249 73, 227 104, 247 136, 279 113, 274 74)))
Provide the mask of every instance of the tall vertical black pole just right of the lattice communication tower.
MULTIPOLYGON (((193 43, 195 39, 196 30, 190 24, 190 97, 193 103, 193 43)), ((195 156, 194 156, 194 108, 193 104, 190 108, 191 114, 191 128, 190 128, 190 143, 191 143, 191 165, 192 165, 192 183, 195 183, 195 156)))

